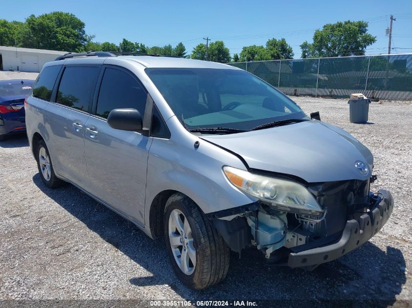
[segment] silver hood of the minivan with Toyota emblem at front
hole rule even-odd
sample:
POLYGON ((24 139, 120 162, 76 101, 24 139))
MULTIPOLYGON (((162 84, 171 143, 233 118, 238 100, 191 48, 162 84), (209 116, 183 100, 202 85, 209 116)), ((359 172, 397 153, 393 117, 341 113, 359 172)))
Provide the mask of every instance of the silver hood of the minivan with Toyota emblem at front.
POLYGON ((201 138, 240 155, 250 168, 307 182, 364 181, 373 168, 368 148, 342 128, 317 120, 201 138), (357 161, 369 166, 366 175, 355 167, 357 161))

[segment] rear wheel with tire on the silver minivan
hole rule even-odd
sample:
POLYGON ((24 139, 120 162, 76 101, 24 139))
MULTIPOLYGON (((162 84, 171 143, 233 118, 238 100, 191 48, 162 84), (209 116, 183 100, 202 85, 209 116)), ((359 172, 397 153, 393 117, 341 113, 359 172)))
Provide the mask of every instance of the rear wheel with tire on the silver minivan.
POLYGON ((64 183, 64 181, 56 177, 56 174, 54 173, 49 150, 43 140, 40 140, 36 146, 36 160, 40 179, 47 187, 56 188, 64 183))

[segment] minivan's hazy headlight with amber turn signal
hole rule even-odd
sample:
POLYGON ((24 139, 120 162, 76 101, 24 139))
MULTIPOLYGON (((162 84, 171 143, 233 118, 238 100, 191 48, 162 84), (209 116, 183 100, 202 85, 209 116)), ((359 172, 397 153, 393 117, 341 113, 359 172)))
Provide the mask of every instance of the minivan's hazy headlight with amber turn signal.
POLYGON ((223 172, 237 188, 280 211, 319 216, 323 210, 308 189, 294 181, 265 177, 224 166, 223 172))

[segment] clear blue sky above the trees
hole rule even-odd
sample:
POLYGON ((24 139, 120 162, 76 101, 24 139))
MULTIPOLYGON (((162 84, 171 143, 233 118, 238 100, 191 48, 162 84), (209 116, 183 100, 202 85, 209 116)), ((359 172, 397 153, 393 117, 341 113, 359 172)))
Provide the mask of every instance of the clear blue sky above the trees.
POLYGON ((315 29, 342 20, 367 20, 369 32, 377 37, 366 54, 386 54, 385 29, 393 22, 391 53, 412 53, 411 0, 346 1, 87 1, 87 0, 4 0, 0 18, 24 21, 31 14, 52 11, 75 14, 85 22, 86 33, 98 42, 114 42, 125 37, 147 46, 176 45, 182 41, 190 53, 194 46, 221 39, 231 54, 243 46, 264 45, 269 38, 285 37, 300 57, 299 45, 312 42, 315 29), (311 4, 308 4, 311 3, 311 4))

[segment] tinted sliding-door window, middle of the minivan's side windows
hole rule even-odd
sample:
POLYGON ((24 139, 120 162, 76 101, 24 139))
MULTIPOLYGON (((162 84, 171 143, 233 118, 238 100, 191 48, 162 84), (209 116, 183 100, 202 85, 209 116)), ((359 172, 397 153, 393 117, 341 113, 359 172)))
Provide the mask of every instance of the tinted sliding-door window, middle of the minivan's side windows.
POLYGON ((87 111, 99 72, 99 67, 66 67, 60 80, 56 102, 87 111))

